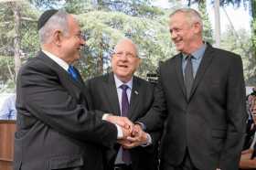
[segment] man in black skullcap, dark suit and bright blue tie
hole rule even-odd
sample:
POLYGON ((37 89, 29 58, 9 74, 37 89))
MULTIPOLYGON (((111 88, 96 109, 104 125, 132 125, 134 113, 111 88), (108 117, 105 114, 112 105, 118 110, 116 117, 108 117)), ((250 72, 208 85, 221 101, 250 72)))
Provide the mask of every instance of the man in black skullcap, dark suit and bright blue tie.
POLYGON ((133 123, 87 110, 83 81, 71 66, 85 44, 73 16, 48 10, 38 30, 42 50, 17 76, 14 169, 102 170, 102 150, 130 135, 133 123))

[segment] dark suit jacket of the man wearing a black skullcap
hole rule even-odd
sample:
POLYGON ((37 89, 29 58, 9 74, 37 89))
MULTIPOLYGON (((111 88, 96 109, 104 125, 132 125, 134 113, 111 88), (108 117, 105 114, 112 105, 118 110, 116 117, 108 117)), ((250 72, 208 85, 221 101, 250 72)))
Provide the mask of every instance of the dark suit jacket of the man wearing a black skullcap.
POLYGON ((88 112, 84 84, 39 52, 16 84, 15 170, 101 170, 102 149, 116 142, 103 112, 88 112))

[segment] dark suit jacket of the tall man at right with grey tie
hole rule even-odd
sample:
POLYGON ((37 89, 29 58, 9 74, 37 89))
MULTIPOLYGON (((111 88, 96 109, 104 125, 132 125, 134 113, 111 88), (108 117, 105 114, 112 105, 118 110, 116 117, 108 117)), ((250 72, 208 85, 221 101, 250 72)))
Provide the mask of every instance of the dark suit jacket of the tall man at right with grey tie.
MULTIPOLYGON (((247 119, 240 57, 207 45, 188 101, 182 55, 165 61, 159 71, 156 89, 167 108, 161 161, 179 165, 188 149, 200 170, 238 169, 247 119)), ((160 119, 151 115, 141 122, 154 129, 160 119)))

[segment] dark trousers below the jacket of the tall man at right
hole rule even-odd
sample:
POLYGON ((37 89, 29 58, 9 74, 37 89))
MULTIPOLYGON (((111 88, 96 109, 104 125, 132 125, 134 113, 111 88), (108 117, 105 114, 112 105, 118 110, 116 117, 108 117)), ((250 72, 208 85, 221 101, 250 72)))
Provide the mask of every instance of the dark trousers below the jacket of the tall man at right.
POLYGON ((187 151, 185 154, 184 160, 180 165, 173 166, 164 162, 160 164, 160 170, 199 170, 199 169, 197 169, 195 165, 192 163, 190 155, 187 151))

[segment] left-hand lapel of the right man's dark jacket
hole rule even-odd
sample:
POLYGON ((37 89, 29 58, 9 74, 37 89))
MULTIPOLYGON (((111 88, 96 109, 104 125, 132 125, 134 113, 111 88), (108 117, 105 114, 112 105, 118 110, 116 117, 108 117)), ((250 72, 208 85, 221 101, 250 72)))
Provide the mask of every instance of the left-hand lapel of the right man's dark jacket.
POLYGON ((179 82, 180 88, 183 92, 184 97, 187 99, 187 92, 184 84, 183 72, 182 72, 182 54, 176 56, 176 75, 179 82))

